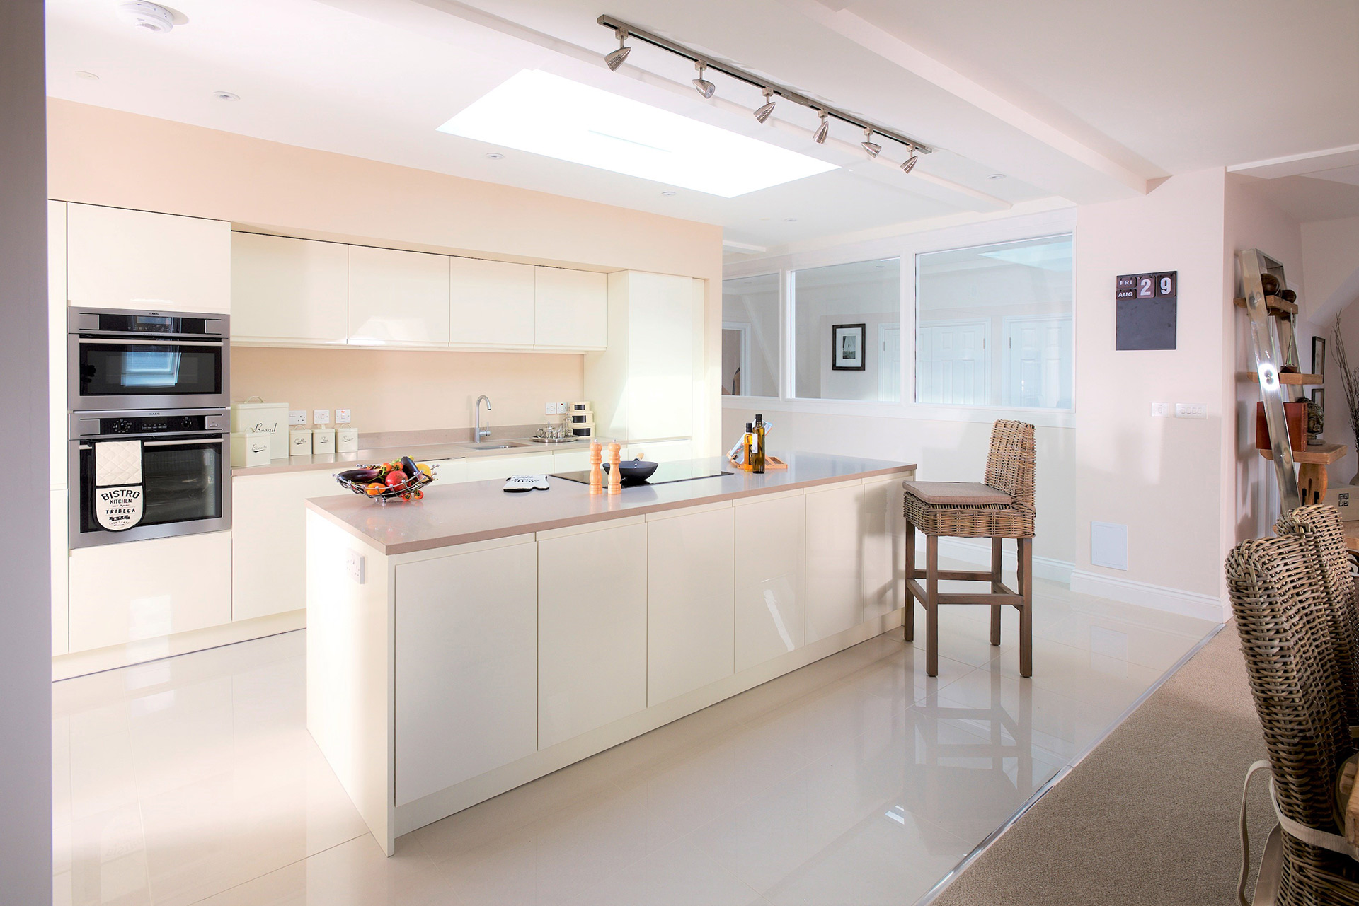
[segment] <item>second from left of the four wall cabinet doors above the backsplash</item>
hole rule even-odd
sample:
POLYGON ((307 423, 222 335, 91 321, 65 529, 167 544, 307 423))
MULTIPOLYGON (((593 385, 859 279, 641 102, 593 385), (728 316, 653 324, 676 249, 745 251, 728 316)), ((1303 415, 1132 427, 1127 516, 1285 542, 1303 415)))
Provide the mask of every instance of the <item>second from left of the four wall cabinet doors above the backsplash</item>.
POLYGON ((447 346, 448 257, 349 246, 349 342, 447 346))

